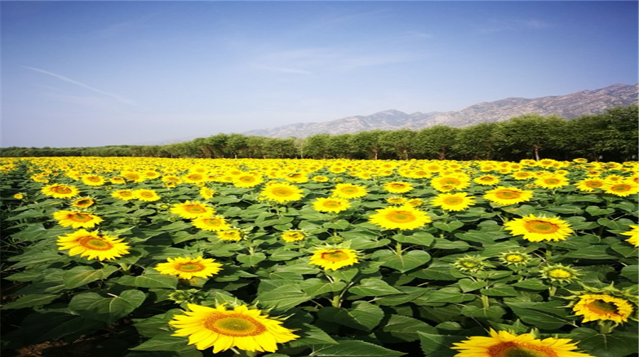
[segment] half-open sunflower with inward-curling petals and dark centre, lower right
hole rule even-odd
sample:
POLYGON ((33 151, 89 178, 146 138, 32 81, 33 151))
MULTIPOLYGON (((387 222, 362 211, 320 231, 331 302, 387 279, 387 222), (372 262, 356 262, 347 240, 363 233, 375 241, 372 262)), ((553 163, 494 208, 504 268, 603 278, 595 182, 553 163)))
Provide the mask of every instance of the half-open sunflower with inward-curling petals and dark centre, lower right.
POLYGON ((634 307, 626 299, 606 294, 579 295, 579 300, 572 307, 575 314, 584 317, 582 322, 611 320, 621 323, 628 321, 634 307))

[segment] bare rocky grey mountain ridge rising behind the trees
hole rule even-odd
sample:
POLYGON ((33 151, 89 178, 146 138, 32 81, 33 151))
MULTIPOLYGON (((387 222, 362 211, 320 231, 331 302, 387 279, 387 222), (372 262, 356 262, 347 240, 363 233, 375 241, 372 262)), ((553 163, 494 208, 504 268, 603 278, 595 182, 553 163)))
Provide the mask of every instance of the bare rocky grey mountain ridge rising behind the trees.
POLYGON ((593 91, 578 91, 564 96, 541 98, 506 98, 500 101, 483 102, 461 111, 404 113, 381 111, 372 115, 356 115, 322 123, 296 123, 278 128, 251 130, 244 135, 265 137, 308 137, 315 134, 352 134, 373 129, 397 130, 410 128, 419 130, 433 125, 464 127, 479 123, 508 120, 524 114, 559 115, 562 118, 577 118, 581 115, 599 114, 613 106, 630 106, 639 101, 638 84, 613 84, 593 91))

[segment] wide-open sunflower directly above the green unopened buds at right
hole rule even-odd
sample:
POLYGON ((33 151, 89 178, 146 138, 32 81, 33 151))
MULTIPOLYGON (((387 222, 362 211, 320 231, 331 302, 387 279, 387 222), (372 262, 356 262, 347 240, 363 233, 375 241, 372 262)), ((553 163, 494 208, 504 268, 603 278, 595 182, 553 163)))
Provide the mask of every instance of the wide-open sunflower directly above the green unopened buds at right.
POLYGON ((515 218, 503 225, 513 236, 523 235, 530 242, 565 240, 573 230, 570 225, 557 217, 535 217, 528 215, 515 218))

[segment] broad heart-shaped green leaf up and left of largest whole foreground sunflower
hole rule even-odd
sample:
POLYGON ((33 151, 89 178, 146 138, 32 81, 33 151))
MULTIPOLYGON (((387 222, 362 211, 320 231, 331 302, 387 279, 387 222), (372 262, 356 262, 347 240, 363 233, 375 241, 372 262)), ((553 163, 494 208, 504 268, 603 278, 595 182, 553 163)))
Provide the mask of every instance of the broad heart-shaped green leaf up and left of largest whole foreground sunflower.
POLYGON ((146 295, 139 290, 124 290, 116 297, 102 297, 97 293, 75 295, 69 309, 78 314, 112 324, 142 305, 146 295))

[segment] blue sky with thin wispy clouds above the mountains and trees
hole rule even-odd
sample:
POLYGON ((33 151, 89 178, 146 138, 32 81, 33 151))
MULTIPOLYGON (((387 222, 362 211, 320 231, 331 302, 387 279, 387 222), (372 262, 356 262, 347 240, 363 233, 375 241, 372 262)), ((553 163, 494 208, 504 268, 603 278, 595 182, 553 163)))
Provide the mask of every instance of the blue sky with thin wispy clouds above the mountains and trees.
POLYGON ((3 147, 189 140, 638 81, 637 1, 1 1, 3 147))

